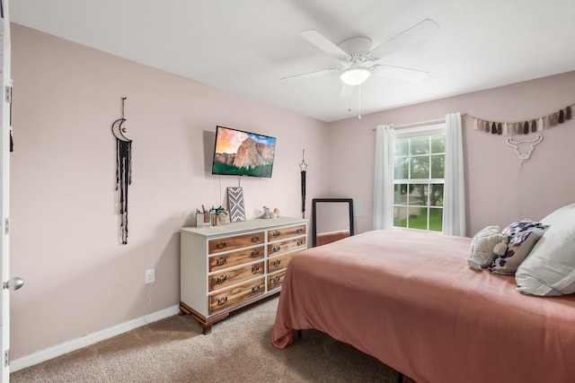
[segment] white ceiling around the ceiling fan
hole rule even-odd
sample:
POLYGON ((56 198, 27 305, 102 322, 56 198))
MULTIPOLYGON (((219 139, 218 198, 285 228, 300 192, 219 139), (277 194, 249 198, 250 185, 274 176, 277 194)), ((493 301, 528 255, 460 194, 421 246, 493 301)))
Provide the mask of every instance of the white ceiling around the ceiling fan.
POLYGON ((575 70, 573 0, 12 0, 12 22, 199 83, 333 121, 575 70), (374 46, 432 19, 433 38, 385 60, 422 83, 371 76, 341 99, 338 60, 305 39, 374 46), (360 108, 359 108, 360 107, 360 108))

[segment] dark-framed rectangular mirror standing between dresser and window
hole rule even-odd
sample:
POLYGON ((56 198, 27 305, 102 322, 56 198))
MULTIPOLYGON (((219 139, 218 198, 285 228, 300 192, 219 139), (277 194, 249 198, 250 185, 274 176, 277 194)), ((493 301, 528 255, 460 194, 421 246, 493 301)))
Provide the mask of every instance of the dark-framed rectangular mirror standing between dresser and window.
POLYGON ((321 246, 353 235, 353 199, 312 200, 312 246, 321 246))

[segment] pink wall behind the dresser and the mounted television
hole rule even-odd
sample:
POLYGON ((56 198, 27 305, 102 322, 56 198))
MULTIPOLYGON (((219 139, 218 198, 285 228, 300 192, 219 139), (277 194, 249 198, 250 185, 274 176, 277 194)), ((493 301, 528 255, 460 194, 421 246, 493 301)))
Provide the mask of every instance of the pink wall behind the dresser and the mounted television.
POLYGON ((276 136, 272 178, 242 178, 247 218, 262 205, 301 216, 327 185, 327 124, 13 25, 12 358, 180 299, 181 226, 226 204, 238 178, 207 170, 216 125, 276 136), (119 244, 112 122, 126 100, 133 139, 128 245, 119 244), (156 270, 151 291, 145 271, 156 270))

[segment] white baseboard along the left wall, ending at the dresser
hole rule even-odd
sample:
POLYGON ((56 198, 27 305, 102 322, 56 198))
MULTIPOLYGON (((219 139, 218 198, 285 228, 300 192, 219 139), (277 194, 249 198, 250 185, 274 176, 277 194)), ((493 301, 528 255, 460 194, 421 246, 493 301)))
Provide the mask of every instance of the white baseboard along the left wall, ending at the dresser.
POLYGON ((179 312, 179 306, 172 306, 167 309, 162 309, 160 311, 155 311, 151 314, 147 314, 144 317, 129 320, 128 322, 121 323, 117 326, 111 326, 109 328, 103 329, 102 331, 84 335, 81 338, 71 340, 64 344, 58 344, 53 347, 49 347, 46 350, 39 351, 38 353, 26 355, 15 361, 10 361, 10 371, 14 372, 17 370, 25 369, 27 367, 31 367, 34 364, 41 363, 42 361, 48 361, 50 359, 56 358, 57 356, 73 352, 91 344, 102 342, 103 340, 111 338, 112 336, 126 333, 137 327, 145 326, 149 323, 172 317, 179 312))

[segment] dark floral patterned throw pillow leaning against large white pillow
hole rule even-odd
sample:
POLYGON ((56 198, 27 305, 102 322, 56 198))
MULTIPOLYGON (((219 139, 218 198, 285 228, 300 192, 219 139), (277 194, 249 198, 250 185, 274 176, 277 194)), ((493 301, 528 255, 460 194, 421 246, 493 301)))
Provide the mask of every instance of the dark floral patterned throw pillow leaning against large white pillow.
POLYGON ((503 229, 501 233, 509 237, 507 252, 493 260, 489 266, 491 272, 504 275, 515 274, 517 267, 529 255, 548 227, 541 222, 523 220, 513 222, 503 229))

